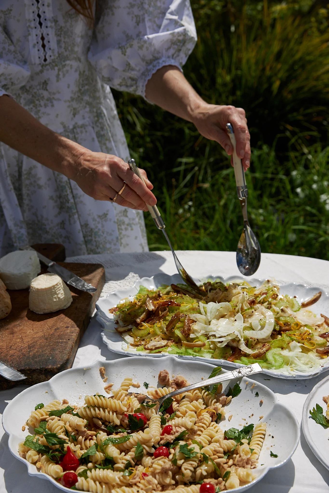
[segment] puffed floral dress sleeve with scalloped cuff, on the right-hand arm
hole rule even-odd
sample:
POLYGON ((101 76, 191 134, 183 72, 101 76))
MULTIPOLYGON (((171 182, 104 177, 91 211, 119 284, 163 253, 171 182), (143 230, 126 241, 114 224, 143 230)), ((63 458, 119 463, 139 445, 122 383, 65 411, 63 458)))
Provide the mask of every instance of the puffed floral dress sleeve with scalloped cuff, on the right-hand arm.
POLYGON ((195 42, 189 0, 110 0, 99 12, 89 60, 110 87, 145 97, 152 74, 165 65, 181 69, 195 42))

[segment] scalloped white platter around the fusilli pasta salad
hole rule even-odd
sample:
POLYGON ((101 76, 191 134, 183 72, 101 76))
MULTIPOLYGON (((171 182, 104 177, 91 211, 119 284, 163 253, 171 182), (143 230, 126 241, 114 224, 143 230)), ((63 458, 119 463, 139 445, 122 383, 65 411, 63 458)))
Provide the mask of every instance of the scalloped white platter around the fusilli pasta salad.
MULTIPOLYGON (((100 366, 105 367, 108 382, 119 387, 125 376, 133 378, 134 382, 149 383, 149 386, 158 386, 159 371, 166 368, 169 374, 182 375, 192 384, 207 378, 213 370, 213 365, 200 361, 180 361, 175 356, 165 356, 164 359, 151 357, 139 358, 120 358, 113 361, 95 361, 92 365, 85 368, 72 368, 58 373, 48 382, 29 387, 18 394, 4 410, 2 425, 5 432, 9 435, 8 446, 10 452, 24 462, 28 468, 30 476, 37 476, 46 479, 56 485, 62 491, 71 491, 57 483, 53 478, 38 472, 34 464, 21 458, 18 454, 18 444, 29 434, 28 429, 22 431, 22 425, 27 421, 35 405, 39 402, 44 404, 53 399, 68 399, 70 404, 81 404, 84 396, 96 392, 104 392, 104 382, 100 376, 100 366)), ((226 373, 226 370, 222 370, 226 373)), ((269 469, 277 468, 285 464, 294 453, 299 442, 299 425, 292 412, 280 404, 272 390, 250 378, 234 379, 241 387, 239 396, 225 406, 226 416, 220 422, 223 429, 231 427, 241 429, 249 423, 266 422, 267 430, 263 447, 259 456, 259 467, 255 469, 256 479, 249 484, 235 489, 235 492, 242 492, 260 481, 269 469), (253 384, 255 383, 255 387, 253 384), (252 388, 253 387, 253 388, 252 388), (256 391, 259 395, 255 395, 256 391), (261 402, 261 400, 263 402, 261 402), (232 419, 228 422, 227 417, 232 414, 232 419), (249 417, 253 415, 253 418, 249 417), (259 420, 259 416, 263 416, 259 420), (246 420, 246 421, 244 421, 246 420), (277 458, 270 457, 270 451, 276 454, 277 458)), ((232 385, 231 381, 223 384, 223 391, 232 385)), ((143 387, 142 387, 143 389, 143 387)), ((136 390, 135 390, 136 391, 136 390)), ((142 391, 142 390, 141 390, 142 391)))

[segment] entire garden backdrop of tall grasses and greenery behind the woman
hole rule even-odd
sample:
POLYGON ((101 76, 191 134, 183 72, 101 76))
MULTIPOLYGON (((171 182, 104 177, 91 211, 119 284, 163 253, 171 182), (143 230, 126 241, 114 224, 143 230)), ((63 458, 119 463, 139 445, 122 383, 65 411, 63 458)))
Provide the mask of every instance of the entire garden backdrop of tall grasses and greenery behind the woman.
MULTIPOLYGON (((329 9, 287 3, 192 0, 199 39, 184 73, 206 101, 246 109, 248 210, 262 251, 329 260, 329 9)), ((142 98, 114 96, 174 247, 235 250, 242 216, 219 144, 142 98)), ((168 248, 145 218, 150 249, 168 248)))

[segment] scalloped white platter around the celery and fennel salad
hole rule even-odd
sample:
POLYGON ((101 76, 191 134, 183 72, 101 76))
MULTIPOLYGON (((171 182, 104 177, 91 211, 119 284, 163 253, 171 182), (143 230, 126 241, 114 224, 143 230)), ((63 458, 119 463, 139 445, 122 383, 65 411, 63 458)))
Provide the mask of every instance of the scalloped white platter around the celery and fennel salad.
MULTIPOLYGON (((215 280, 219 279, 222 282, 241 282, 245 281, 245 278, 239 277, 239 276, 231 276, 228 278, 222 278, 220 276, 208 276, 206 277, 207 280, 215 280)), ((248 279, 248 282, 252 283, 252 285, 255 286, 260 286, 265 280, 260 280, 260 279, 248 279)), ((115 331, 115 324, 114 324, 114 319, 113 315, 109 313, 109 310, 113 307, 115 307, 121 300, 124 298, 130 298, 133 300, 134 296, 139 290, 140 286, 145 286, 148 289, 156 289, 157 287, 161 286, 162 284, 172 284, 175 283, 177 284, 178 282, 182 282, 181 277, 179 274, 175 274, 174 276, 169 276, 168 274, 155 274, 151 278, 142 278, 141 280, 135 282, 135 284, 129 288, 129 289, 122 289, 122 290, 117 290, 113 293, 109 293, 107 297, 104 298, 99 298, 99 300, 96 303, 96 319, 104 329, 102 332, 102 338, 104 344, 107 345, 109 350, 111 352, 115 352, 117 354, 122 354, 122 355, 134 355, 134 356, 151 356, 155 358, 161 358, 166 356, 167 354, 164 353, 147 353, 147 352, 138 352, 135 349, 128 348, 128 344, 124 341, 124 339, 121 337, 120 334, 118 334, 115 331)), ((320 300, 311 307, 311 310, 316 313, 317 315, 320 315, 320 313, 324 314, 329 314, 329 292, 324 292, 323 289, 320 287, 307 287, 303 284, 296 284, 294 282, 287 283, 287 284, 280 284, 280 293, 281 294, 288 294, 289 296, 296 296, 297 300, 299 302, 306 300, 313 296, 315 293, 318 291, 322 291, 322 296, 320 300)), ((182 355, 175 355, 175 357, 184 359, 184 360, 194 360, 194 361, 204 361, 208 362, 211 364, 214 364, 216 366, 224 366, 228 368, 239 368, 243 365, 240 365, 238 363, 233 363, 232 361, 227 361, 226 359, 210 359, 210 358, 204 358, 201 356, 182 356, 182 355)), ((329 358, 324 360, 323 366, 320 367, 320 369, 317 369, 312 372, 308 373, 297 373, 294 372, 291 375, 286 375, 280 370, 263 370, 263 373, 266 375, 270 375, 272 377, 278 377, 278 378, 284 378, 284 379, 306 379, 306 378, 312 378, 320 373, 329 370, 329 358)))

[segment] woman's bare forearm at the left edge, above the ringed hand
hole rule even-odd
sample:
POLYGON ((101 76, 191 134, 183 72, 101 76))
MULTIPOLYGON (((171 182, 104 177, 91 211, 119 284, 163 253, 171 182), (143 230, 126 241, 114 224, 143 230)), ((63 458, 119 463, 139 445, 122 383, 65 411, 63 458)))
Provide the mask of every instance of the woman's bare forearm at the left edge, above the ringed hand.
POLYGON ((74 177, 77 156, 85 150, 42 125, 8 96, 0 97, 0 141, 69 178, 74 177))

